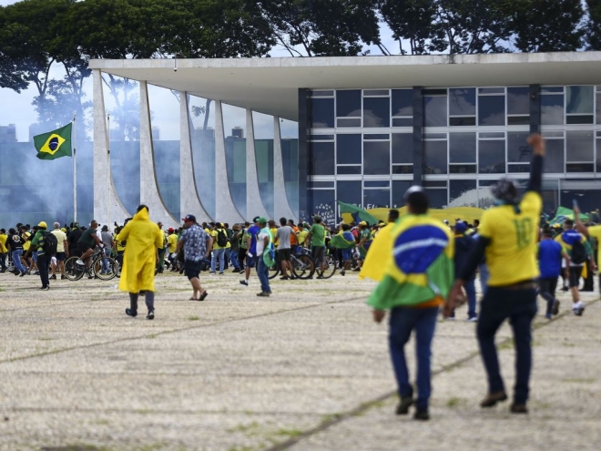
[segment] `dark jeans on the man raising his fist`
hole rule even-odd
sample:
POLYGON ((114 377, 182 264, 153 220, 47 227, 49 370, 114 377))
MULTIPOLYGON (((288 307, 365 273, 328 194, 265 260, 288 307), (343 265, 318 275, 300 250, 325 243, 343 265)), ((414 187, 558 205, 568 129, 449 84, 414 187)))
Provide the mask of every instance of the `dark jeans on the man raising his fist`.
POLYGON ((478 318, 478 343, 488 377, 488 392, 504 392, 499 358, 494 346, 494 335, 505 319, 509 318, 515 343, 514 403, 528 400, 530 372, 532 370, 532 320, 536 314, 536 290, 507 290, 488 287, 480 306, 478 318))

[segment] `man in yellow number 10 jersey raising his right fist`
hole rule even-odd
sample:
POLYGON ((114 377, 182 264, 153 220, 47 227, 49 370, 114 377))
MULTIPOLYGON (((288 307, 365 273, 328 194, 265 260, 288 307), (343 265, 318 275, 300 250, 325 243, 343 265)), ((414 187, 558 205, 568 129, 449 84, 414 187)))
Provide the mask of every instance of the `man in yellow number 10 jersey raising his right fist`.
POLYGON ((545 140, 538 134, 528 138, 534 149, 530 163, 530 180, 520 200, 517 184, 500 179, 493 187, 497 205, 484 211, 478 229, 479 237, 465 264, 457 269, 457 280, 445 304, 445 313, 453 311, 462 286, 482 257, 490 272, 488 288, 482 300, 477 336, 484 369, 488 376, 488 395, 481 407, 492 407, 507 399, 494 335, 510 320, 515 342, 514 402, 510 411, 526 414, 530 372, 532 369, 532 321, 536 314, 536 242, 543 201, 540 191, 543 177, 545 140))

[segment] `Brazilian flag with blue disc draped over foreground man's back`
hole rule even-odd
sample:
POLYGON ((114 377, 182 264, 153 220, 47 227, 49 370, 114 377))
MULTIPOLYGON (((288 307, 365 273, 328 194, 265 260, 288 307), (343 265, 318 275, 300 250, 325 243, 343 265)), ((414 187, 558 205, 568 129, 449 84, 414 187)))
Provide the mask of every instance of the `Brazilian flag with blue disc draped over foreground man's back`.
POLYGON ((445 298, 453 284, 454 242, 438 220, 426 215, 407 215, 393 226, 392 240, 382 249, 385 260, 382 282, 368 302, 378 310, 416 305, 445 298))

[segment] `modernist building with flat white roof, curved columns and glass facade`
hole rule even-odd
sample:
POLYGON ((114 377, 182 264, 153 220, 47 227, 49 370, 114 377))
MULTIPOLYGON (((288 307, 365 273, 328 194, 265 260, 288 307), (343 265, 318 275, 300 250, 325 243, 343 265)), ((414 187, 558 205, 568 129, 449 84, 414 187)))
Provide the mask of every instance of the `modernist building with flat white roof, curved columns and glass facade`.
MULTIPOLYGON (((333 222, 336 200, 397 207, 414 183, 426 188, 433 207, 486 206, 488 187, 501 176, 527 179, 525 138, 535 131, 547 138, 545 208, 569 206, 575 197, 585 210, 601 207, 598 52, 93 60, 90 67, 95 182, 107 177, 101 73, 139 80, 140 200, 166 224, 178 219, 158 194, 148 85, 184 94, 178 210, 203 220, 234 222, 255 214, 298 219, 320 212, 333 222), (202 180, 194 170, 189 96, 215 101, 213 177, 202 180), (245 140, 225 136, 224 104, 246 108, 245 140), (260 163, 251 136, 253 110, 273 117, 271 157, 260 163), (298 123, 298 143, 282 145, 280 118, 298 123), (234 170, 233 152, 242 142, 245 170, 234 170), (260 187, 261 171, 270 176, 260 187), (214 207, 209 212, 205 205, 214 207)), ((115 190, 95 196, 97 218, 120 220, 131 213, 115 190)))

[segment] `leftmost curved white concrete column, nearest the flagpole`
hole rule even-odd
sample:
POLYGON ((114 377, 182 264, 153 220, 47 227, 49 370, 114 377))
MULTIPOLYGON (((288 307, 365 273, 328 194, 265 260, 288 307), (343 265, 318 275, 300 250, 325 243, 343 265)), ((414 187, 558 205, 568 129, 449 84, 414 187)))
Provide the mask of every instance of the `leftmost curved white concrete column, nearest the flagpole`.
POLYGON ((129 217, 117 196, 113 175, 110 172, 108 153, 107 115, 102 89, 102 72, 92 71, 94 89, 94 219, 100 224, 122 224, 129 217), (109 190, 110 188, 110 190, 109 190))

